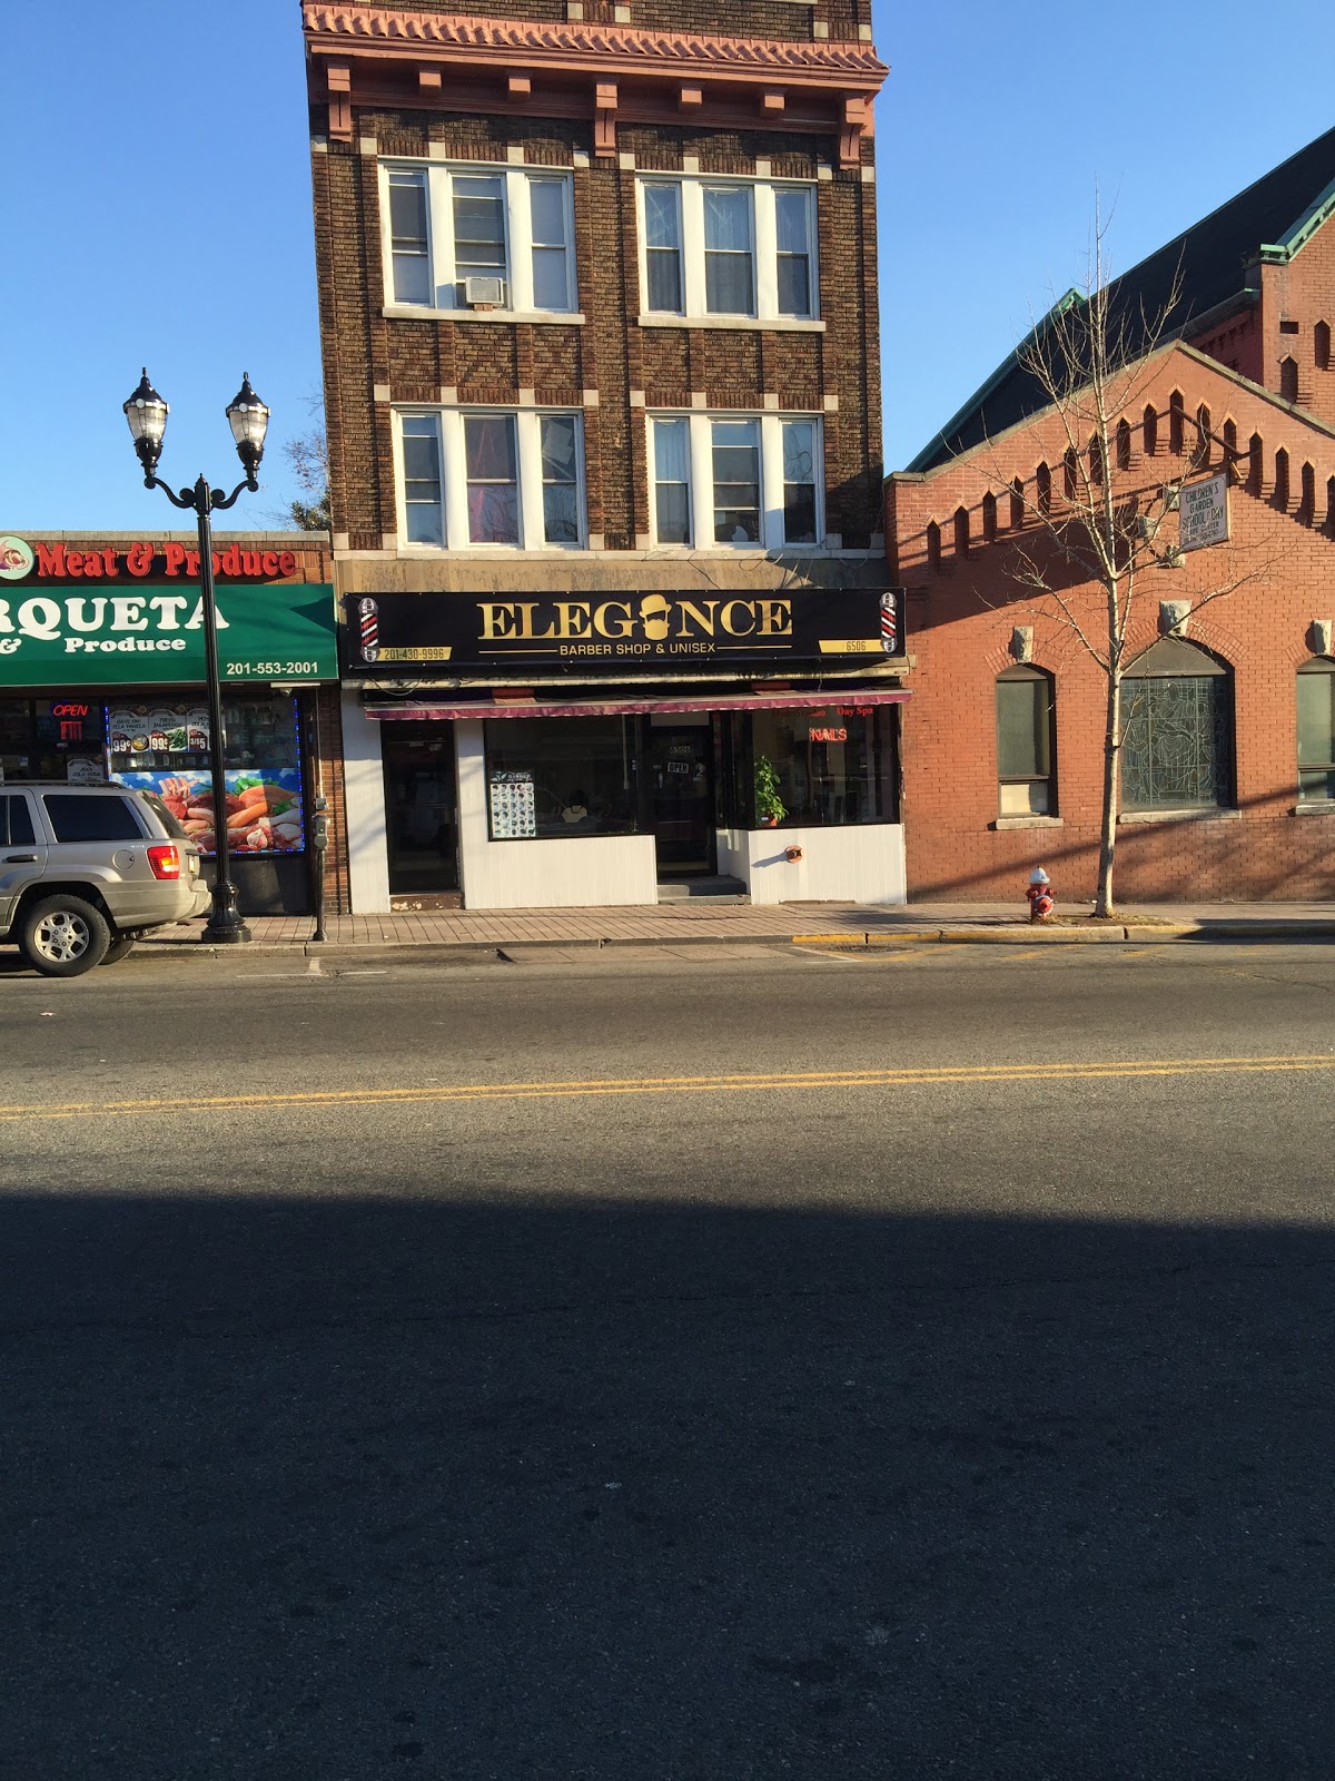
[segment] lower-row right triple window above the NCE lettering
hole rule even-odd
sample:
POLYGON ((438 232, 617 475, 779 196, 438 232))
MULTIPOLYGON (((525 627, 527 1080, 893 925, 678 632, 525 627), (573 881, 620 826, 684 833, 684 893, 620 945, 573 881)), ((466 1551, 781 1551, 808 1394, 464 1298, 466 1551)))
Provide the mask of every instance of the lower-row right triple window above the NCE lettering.
POLYGON ((655 545, 821 545, 821 422, 783 415, 650 419, 655 545))

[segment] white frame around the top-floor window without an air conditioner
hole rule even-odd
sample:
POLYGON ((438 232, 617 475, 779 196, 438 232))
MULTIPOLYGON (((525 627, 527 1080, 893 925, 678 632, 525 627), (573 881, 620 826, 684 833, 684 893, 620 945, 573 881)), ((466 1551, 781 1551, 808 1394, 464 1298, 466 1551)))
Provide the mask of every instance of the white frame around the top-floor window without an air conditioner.
POLYGON ((635 246, 639 258, 641 328, 771 328, 824 331, 821 319, 821 265, 817 256, 817 182, 744 180, 712 173, 643 173, 635 178, 635 246), (682 294, 684 312, 650 310, 648 230, 644 224, 644 187, 675 185, 682 217, 682 294), (705 306, 705 189, 740 187, 751 192, 751 255, 755 310, 744 315, 710 312, 705 306), (778 306, 778 221, 776 192, 803 192, 806 198, 806 255, 812 305, 808 315, 781 315, 778 306))

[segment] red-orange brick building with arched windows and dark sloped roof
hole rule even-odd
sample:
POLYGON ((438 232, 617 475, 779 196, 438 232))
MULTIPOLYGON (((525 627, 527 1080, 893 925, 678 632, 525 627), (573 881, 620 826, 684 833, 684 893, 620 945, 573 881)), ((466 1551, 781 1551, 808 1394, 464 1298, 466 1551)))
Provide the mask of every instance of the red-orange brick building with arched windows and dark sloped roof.
MULTIPOLYGON (((1178 272, 1107 472, 1018 349, 886 483, 917 659, 911 896, 1018 901, 1034 866, 1059 898, 1095 894, 1105 677, 1057 600, 1016 582, 1025 557, 1052 566, 1043 516, 1075 470, 1107 474, 1116 504, 1228 484, 1228 541, 1180 550, 1173 513, 1164 566, 1137 582, 1116 896, 1335 892, 1335 132, 1111 285, 1114 326, 1159 313, 1178 272)), ((1068 294, 1066 313, 1082 301, 1068 294)), ((1040 338, 1057 326, 1054 312, 1040 338)), ((1061 598, 1105 630, 1102 588, 1068 563, 1061 598)))

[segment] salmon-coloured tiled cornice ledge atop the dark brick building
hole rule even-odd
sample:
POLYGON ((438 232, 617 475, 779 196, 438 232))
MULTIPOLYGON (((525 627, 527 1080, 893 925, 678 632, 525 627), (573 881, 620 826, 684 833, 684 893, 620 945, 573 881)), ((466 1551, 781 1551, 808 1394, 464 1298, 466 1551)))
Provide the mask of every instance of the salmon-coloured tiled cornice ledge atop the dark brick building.
MULTIPOLYGON (((470 18, 457 12, 402 12, 377 5, 322 5, 306 0, 303 18, 308 39, 356 39, 360 46, 383 45, 406 52, 465 50, 488 61, 504 57, 568 57, 584 68, 586 57, 630 59, 673 71, 692 73, 724 69, 774 73, 822 84, 881 85, 888 69, 874 50, 862 43, 790 43, 774 37, 716 37, 687 30, 637 30, 634 25, 586 25, 552 20, 470 18)), ((333 48, 333 43, 329 45, 333 48)))

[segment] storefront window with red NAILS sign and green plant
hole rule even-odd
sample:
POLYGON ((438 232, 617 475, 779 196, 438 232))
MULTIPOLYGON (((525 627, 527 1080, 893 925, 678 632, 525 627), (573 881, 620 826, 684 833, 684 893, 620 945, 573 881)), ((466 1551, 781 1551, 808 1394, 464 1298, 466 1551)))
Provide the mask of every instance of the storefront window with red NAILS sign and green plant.
POLYGON ((746 826, 895 821, 894 720, 879 705, 756 711, 735 750, 735 809, 746 826))

